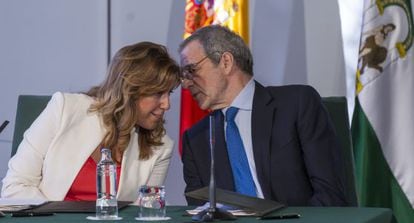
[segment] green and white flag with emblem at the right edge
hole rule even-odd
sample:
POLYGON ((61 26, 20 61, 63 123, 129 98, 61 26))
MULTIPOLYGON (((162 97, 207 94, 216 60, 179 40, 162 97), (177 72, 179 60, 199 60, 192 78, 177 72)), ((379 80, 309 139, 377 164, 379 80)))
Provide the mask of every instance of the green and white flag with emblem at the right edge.
POLYGON ((365 0, 352 120, 361 206, 414 222, 414 49, 410 0, 365 0))

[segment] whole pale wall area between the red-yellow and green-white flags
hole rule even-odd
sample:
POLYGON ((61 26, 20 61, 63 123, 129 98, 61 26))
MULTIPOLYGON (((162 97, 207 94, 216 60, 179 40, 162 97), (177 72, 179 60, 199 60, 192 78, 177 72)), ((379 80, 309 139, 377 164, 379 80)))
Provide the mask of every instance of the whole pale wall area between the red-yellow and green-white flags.
POLYGON ((267 85, 310 84, 322 96, 346 94, 337 1, 251 2, 257 80, 267 85))

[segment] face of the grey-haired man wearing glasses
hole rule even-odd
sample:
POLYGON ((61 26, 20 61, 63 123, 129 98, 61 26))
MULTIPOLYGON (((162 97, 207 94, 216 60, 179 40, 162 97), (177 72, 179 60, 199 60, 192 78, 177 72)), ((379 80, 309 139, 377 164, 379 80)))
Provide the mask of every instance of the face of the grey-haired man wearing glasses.
POLYGON ((227 81, 222 75, 221 64, 215 65, 207 56, 197 40, 181 51, 182 87, 191 92, 201 109, 213 110, 224 98, 227 81))

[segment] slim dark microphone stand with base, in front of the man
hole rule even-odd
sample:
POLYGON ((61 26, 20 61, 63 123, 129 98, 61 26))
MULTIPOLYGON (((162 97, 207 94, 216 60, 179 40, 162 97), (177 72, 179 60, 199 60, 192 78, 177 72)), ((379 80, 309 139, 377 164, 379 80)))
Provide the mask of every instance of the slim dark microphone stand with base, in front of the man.
POLYGON ((214 119, 214 112, 209 114, 209 121, 210 121, 210 129, 209 129, 209 143, 210 143, 210 185, 209 185, 209 203, 210 206, 196 215, 192 217, 193 221, 198 222, 210 222, 216 220, 235 220, 236 217, 234 215, 224 209, 216 207, 216 181, 215 181, 215 174, 214 174, 214 148, 216 144, 216 135, 215 135, 215 119, 214 119))

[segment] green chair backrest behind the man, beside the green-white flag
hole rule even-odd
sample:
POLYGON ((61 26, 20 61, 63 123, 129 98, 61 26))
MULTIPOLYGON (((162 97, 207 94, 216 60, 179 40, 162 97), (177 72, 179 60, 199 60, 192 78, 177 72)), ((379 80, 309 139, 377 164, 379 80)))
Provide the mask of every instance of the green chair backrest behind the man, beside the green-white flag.
POLYGON ((332 123, 341 145, 341 154, 345 169, 342 170, 342 181, 345 186, 345 196, 352 206, 358 205, 355 185, 354 154, 348 119, 348 106, 345 97, 325 97, 322 102, 331 116, 332 123))

